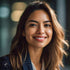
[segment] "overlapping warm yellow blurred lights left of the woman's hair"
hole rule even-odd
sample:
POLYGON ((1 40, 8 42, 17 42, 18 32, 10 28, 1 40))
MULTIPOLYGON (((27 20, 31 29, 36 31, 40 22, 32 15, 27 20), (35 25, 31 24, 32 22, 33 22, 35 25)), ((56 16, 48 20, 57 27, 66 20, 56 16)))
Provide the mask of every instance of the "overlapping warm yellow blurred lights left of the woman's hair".
POLYGON ((18 22, 21 14, 24 12, 27 4, 24 2, 16 2, 12 5, 11 20, 18 22))

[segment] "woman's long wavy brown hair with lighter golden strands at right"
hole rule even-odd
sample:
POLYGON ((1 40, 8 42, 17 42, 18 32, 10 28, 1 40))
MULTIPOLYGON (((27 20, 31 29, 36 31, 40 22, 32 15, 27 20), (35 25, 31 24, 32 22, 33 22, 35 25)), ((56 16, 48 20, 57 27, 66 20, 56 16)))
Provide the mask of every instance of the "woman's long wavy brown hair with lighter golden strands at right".
POLYGON ((43 53, 41 55, 41 59, 43 58, 45 62, 45 69, 60 70, 59 67, 63 66, 63 54, 66 55, 64 44, 68 46, 68 43, 64 40, 64 31, 57 20, 54 10, 48 5, 48 3, 42 1, 34 1, 30 3, 19 20, 10 50, 10 62, 12 68, 13 70, 22 70, 22 55, 25 58, 28 46, 25 37, 22 36, 22 33, 23 31, 25 32, 25 23, 28 17, 35 10, 46 11, 52 20, 53 37, 47 47, 43 49, 43 53))

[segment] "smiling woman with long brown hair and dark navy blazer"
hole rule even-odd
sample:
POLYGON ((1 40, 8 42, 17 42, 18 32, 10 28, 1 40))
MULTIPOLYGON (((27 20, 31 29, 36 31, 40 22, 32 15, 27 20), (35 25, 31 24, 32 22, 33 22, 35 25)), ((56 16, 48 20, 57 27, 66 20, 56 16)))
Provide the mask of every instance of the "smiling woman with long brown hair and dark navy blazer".
POLYGON ((35 1, 22 14, 10 54, 0 58, 0 70, 60 70, 64 32, 54 10, 35 1))

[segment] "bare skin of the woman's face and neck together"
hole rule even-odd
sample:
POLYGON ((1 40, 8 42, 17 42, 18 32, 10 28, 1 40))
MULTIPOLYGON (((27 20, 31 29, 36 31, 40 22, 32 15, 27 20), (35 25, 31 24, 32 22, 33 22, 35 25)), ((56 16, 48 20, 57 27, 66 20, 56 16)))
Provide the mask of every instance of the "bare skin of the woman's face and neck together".
POLYGON ((49 15, 44 10, 34 11, 26 21, 23 36, 26 37, 31 61, 37 70, 41 69, 42 50, 50 43, 52 35, 53 30, 49 15))

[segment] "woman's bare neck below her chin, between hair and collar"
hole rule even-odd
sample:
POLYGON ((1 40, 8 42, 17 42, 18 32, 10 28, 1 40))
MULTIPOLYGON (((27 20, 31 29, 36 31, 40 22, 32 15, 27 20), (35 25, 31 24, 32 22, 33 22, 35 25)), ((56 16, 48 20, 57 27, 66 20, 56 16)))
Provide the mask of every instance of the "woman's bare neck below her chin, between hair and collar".
POLYGON ((28 47, 29 54, 30 54, 30 59, 31 61, 35 64, 38 65, 40 64, 40 58, 42 54, 43 48, 34 48, 34 47, 28 47))

